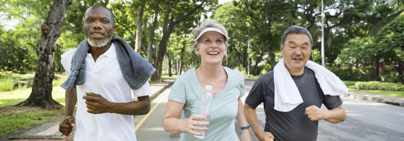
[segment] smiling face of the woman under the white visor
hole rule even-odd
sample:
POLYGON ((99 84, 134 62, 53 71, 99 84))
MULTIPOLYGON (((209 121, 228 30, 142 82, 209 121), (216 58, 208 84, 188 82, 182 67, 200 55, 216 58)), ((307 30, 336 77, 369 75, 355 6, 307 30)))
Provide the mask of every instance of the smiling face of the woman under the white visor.
POLYGON ((196 53, 201 56, 201 64, 221 65, 227 51, 223 34, 208 31, 199 40, 200 45, 196 46, 196 53))

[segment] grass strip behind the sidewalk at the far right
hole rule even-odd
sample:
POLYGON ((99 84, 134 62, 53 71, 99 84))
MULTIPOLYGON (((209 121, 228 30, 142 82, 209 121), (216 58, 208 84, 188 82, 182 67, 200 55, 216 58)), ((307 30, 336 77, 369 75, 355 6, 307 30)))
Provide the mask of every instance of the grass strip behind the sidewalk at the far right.
POLYGON ((396 97, 404 97, 404 91, 381 91, 381 90, 365 90, 365 89, 356 89, 355 83, 357 81, 343 81, 345 85, 347 85, 349 91, 358 91, 364 93, 375 93, 381 95, 389 95, 396 97))

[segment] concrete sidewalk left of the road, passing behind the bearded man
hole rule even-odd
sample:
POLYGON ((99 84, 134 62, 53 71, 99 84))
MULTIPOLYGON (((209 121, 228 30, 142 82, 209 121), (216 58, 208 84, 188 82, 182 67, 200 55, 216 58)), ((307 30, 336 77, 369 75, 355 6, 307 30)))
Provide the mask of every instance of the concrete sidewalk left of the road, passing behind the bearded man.
MULTIPOLYGON (((163 82, 150 83, 150 89, 153 95, 149 95, 150 101, 153 101, 165 89, 173 85, 175 78, 166 79, 163 82)), ((137 98, 133 97, 136 101, 137 98)), ((74 111, 76 112, 76 111, 74 111)), ((75 113, 74 113, 75 114, 75 113)), ((69 136, 64 136, 59 132, 59 124, 64 116, 59 116, 51 120, 35 124, 26 129, 11 133, 0 138, 1 141, 73 141, 74 129, 69 136)))

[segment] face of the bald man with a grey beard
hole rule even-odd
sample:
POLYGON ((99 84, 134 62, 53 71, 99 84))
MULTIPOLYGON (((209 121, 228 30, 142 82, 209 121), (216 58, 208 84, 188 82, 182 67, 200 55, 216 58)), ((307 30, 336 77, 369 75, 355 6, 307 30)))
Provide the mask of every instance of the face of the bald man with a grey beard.
POLYGON ((112 34, 116 31, 111 16, 111 12, 102 6, 93 6, 87 10, 83 31, 90 46, 99 48, 110 44, 112 34))

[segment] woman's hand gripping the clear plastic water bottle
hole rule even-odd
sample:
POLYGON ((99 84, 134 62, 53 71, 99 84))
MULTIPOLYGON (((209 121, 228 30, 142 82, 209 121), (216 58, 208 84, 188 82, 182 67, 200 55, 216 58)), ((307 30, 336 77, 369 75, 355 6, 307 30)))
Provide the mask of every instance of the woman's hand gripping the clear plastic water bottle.
POLYGON ((208 128, 206 127, 199 127, 199 126, 208 126, 208 122, 201 122, 198 120, 204 120, 206 119, 205 116, 198 115, 198 114, 193 114, 189 116, 189 118, 183 120, 182 123, 182 131, 183 132, 188 132, 193 135, 197 136, 202 136, 202 133, 196 132, 196 131, 206 131, 208 128))

